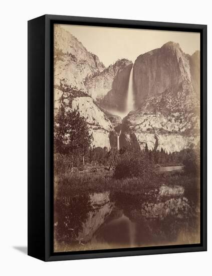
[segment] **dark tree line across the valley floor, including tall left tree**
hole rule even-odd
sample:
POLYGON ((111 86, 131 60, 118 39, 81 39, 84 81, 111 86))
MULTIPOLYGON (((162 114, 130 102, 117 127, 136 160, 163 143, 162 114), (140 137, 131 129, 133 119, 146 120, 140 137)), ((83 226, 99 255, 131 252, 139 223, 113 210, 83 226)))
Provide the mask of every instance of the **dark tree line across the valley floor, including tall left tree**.
POLYGON ((105 166, 108 170, 111 167, 119 168, 120 172, 122 172, 121 168, 125 168, 122 172, 124 175, 127 171, 126 164, 129 170, 134 170, 131 166, 132 160, 135 160, 134 168, 138 171, 141 168, 143 170, 157 165, 183 165, 190 172, 199 169, 199 153, 193 146, 173 153, 167 153, 163 148, 157 150, 157 147, 150 150, 147 144, 143 150, 129 146, 119 151, 117 148, 108 151, 106 147, 92 147, 92 142, 93 136, 85 118, 77 110, 71 110, 62 104, 55 116, 54 124, 56 170, 73 171, 74 167, 84 170, 85 165, 105 166))

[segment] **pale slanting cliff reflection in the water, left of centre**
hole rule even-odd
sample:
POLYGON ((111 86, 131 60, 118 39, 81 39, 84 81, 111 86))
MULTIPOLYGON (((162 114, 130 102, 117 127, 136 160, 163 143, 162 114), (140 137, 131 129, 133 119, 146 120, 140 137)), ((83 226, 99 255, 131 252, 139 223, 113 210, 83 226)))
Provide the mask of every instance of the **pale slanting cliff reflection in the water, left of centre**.
POLYGON ((90 195, 90 201, 93 209, 88 213, 87 220, 83 223, 82 230, 77 237, 77 240, 82 240, 82 242, 89 241, 93 237, 114 207, 109 200, 109 192, 94 193, 90 195))

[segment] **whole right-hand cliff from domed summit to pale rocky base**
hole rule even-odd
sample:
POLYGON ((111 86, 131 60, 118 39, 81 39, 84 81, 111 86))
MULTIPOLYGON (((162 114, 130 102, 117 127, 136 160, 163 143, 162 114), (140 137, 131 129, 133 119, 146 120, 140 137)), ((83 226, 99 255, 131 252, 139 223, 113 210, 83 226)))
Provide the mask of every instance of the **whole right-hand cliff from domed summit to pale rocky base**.
POLYGON ((134 64, 137 109, 124 119, 141 148, 180 151, 199 142, 199 55, 168 42, 134 64))

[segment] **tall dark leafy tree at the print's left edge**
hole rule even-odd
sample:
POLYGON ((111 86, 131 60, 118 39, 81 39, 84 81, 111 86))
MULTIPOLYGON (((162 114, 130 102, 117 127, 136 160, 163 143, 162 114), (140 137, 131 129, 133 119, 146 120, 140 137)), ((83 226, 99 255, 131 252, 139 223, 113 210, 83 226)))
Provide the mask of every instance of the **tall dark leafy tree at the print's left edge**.
MULTIPOLYGON (((93 136, 83 116, 77 110, 67 110, 62 104, 55 117, 55 152, 77 160, 84 156, 91 146, 93 136)), ((84 165, 84 164, 83 164, 84 165)))

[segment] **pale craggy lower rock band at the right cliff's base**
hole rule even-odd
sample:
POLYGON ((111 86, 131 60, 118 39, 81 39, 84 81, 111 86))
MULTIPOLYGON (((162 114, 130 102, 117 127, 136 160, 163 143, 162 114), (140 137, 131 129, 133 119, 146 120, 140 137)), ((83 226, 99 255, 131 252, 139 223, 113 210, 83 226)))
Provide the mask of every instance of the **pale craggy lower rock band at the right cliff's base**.
POLYGON ((199 142, 199 118, 194 113, 163 115, 137 110, 125 118, 124 124, 128 126, 126 133, 134 133, 141 149, 147 144, 148 149, 153 150, 158 144, 157 150, 163 148, 167 153, 172 153, 199 142))

